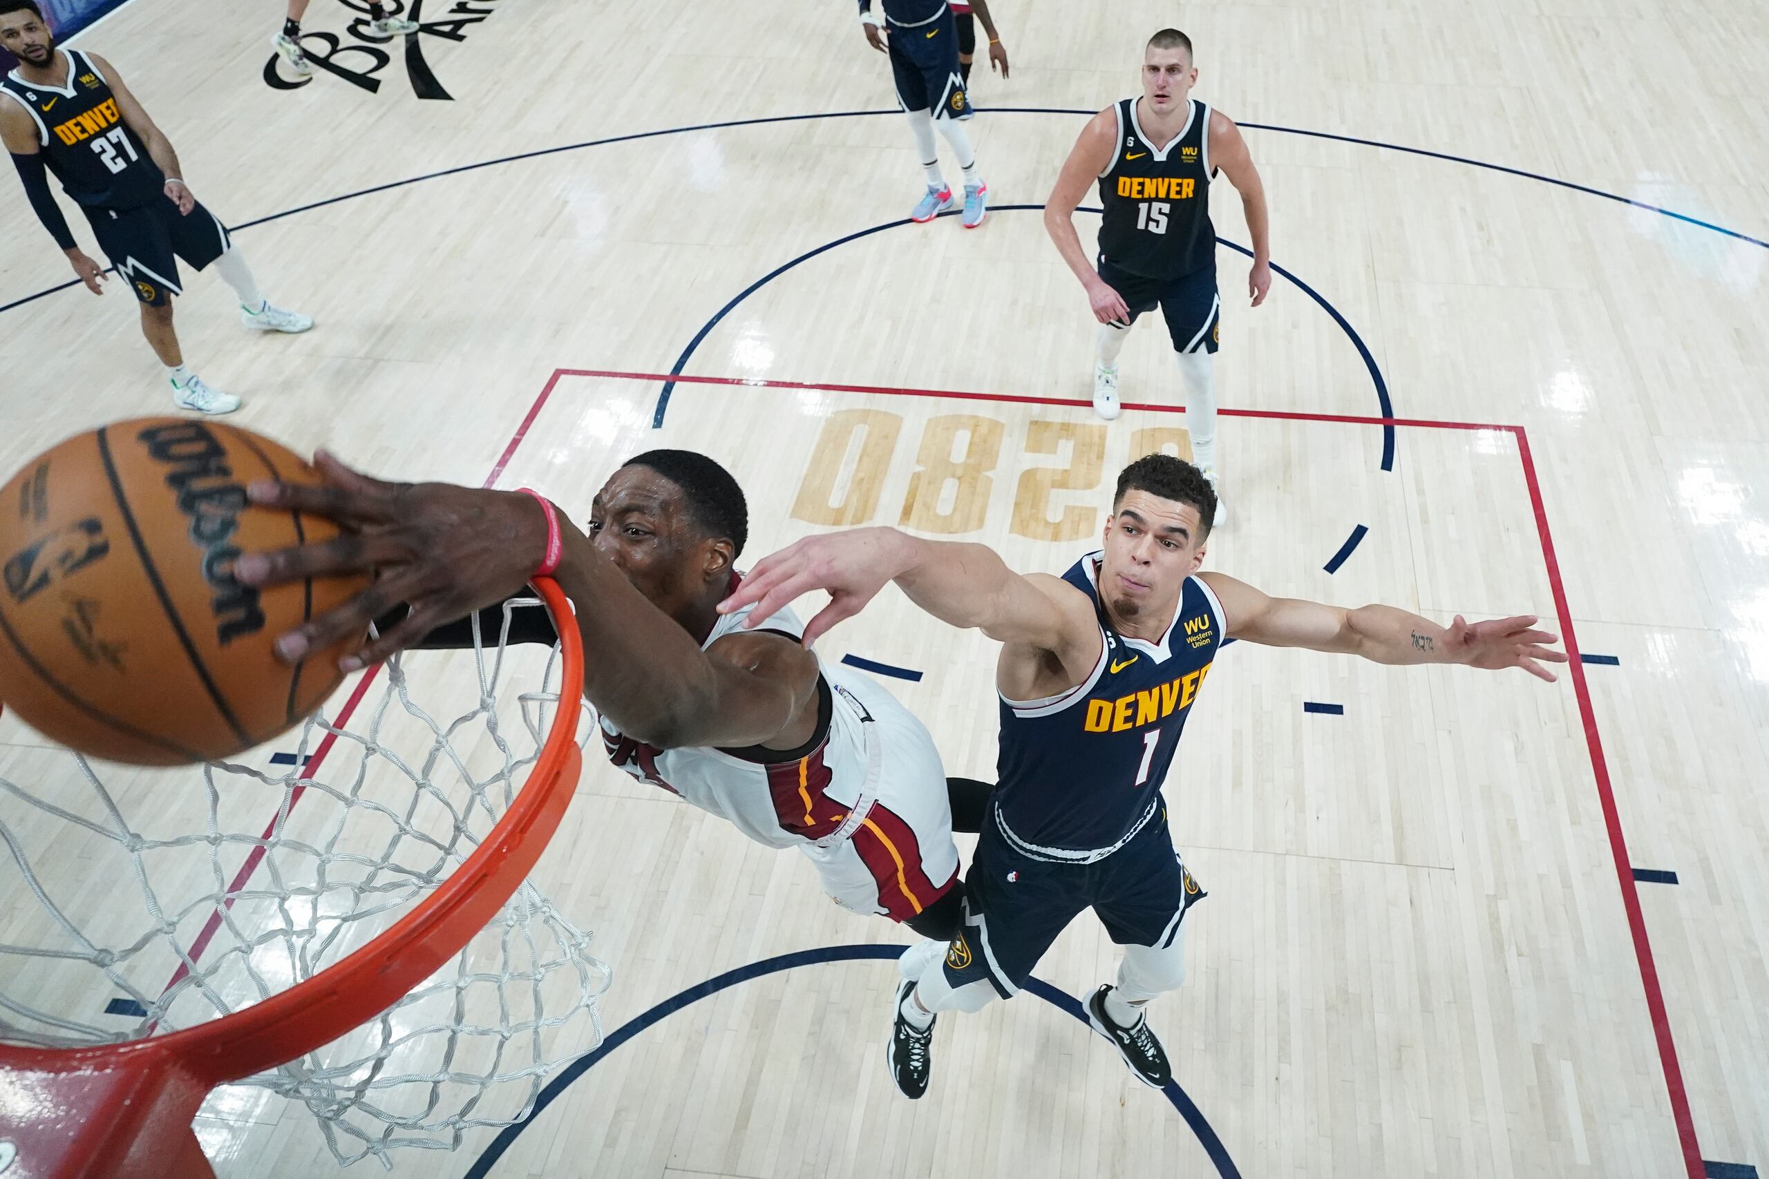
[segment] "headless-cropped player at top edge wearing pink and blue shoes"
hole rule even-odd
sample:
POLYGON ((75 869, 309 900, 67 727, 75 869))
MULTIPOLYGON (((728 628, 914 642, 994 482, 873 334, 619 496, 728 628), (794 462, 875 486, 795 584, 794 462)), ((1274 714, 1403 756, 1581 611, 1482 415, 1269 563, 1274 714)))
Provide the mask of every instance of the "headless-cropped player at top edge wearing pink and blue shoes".
MULTIPOLYGON (((975 230, 989 214, 989 186, 976 171, 976 152, 964 122, 971 117, 971 99, 966 94, 966 71, 959 62, 959 27, 946 0, 860 0, 860 21, 867 42, 890 55, 892 76, 897 81, 897 103, 909 118, 915 147, 922 154, 922 171, 927 173, 927 193, 909 214, 911 221, 932 221, 943 212, 959 209, 952 186, 939 171, 939 150, 934 131, 946 138, 959 157, 964 175, 964 228, 975 230)), ((976 18, 989 34, 989 64, 1007 78, 1007 49, 996 35, 989 16, 989 0, 971 0, 976 18)), ((976 37, 971 37, 971 48, 976 37)))

